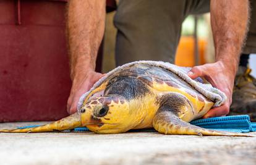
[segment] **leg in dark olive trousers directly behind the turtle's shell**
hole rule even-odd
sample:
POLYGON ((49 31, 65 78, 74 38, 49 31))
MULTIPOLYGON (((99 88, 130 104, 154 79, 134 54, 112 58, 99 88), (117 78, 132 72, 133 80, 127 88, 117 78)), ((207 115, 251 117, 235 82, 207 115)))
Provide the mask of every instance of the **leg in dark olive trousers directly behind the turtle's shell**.
POLYGON ((186 1, 121 0, 114 17, 116 64, 139 60, 173 63, 186 1))

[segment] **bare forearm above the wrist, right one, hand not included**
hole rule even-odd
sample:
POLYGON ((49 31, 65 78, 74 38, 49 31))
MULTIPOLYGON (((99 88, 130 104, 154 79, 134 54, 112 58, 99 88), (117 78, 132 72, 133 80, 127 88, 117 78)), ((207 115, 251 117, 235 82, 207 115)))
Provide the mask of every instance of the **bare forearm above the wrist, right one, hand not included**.
POLYGON ((249 1, 211 0, 210 12, 216 61, 235 75, 247 33, 249 1))

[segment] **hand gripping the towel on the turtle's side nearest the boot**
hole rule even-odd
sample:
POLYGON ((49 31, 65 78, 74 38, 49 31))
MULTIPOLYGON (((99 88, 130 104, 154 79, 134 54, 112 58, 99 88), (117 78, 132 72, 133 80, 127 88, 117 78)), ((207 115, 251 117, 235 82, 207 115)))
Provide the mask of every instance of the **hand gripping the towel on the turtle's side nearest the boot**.
POLYGON ((229 113, 229 106, 232 102, 235 74, 228 68, 228 66, 225 66, 222 61, 202 66, 195 66, 192 67, 187 75, 192 79, 204 77, 211 83, 211 85, 213 85, 213 87, 223 91, 228 98, 222 106, 210 109, 203 118, 224 116, 229 113))

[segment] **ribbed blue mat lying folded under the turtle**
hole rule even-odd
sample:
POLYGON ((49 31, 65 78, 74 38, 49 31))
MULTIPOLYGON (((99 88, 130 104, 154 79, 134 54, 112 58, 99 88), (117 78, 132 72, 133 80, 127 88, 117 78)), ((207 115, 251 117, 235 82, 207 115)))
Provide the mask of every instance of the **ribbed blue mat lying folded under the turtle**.
MULTIPOLYGON (((248 133, 256 131, 256 122, 250 122, 248 115, 237 115, 237 116, 223 116, 223 117, 211 117, 208 119, 198 119, 191 121, 190 124, 203 127, 205 129, 248 133)), ((38 127, 40 125, 28 125, 24 127, 18 127, 17 129, 28 129, 38 127)), ((72 130, 66 130, 68 132, 85 132, 89 131, 87 127, 77 127, 72 130)))

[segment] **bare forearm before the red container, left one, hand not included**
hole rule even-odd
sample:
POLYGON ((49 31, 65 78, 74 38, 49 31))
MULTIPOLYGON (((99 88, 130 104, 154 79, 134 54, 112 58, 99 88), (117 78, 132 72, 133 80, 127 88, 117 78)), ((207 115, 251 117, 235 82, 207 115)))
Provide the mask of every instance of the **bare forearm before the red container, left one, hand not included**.
POLYGON ((96 55, 103 38, 106 2, 70 0, 67 12, 67 40, 70 54, 70 77, 94 70, 96 55))

